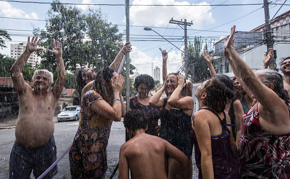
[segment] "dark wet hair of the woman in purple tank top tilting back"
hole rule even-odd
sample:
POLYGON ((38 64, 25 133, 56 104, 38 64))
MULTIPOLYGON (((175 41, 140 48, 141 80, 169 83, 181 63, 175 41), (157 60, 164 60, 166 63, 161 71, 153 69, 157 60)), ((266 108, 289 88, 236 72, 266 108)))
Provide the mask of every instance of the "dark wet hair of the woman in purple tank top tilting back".
POLYGON ((209 81, 204 86, 204 92, 207 93, 205 104, 215 112, 221 113, 225 110, 228 99, 234 97, 234 93, 216 78, 210 78, 208 80, 209 81))

